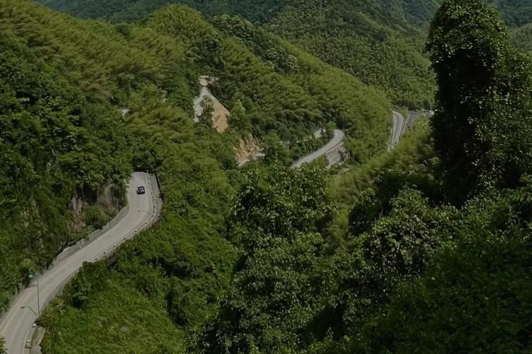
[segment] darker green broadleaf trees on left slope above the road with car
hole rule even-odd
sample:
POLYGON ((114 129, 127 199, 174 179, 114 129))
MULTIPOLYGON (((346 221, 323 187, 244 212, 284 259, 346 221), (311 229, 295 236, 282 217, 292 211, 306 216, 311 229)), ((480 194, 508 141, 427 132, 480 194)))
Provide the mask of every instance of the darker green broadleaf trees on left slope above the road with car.
MULTIPOLYGON (((7 11, 0 10, 2 17, 7 11)), ((107 183, 122 184, 131 167, 117 117, 106 103, 82 91, 73 75, 44 61, 43 54, 51 48, 38 33, 28 44, 16 28, 5 22, 0 27, 0 307, 4 307, 28 272, 49 265, 75 236, 66 209, 71 198, 78 195, 96 202, 98 190, 107 183)))

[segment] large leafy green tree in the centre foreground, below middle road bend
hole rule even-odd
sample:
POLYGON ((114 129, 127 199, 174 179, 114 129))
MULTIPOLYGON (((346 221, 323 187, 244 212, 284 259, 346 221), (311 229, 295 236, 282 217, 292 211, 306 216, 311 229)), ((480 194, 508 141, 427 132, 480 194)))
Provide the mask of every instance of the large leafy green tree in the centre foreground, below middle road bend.
MULTIPOLYGON (((330 218, 327 174, 273 165, 251 171, 232 208, 242 260, 201 346, 207 353, 295 350, 328 289, 319 231, 330 218)), ((288 352, 286 351, 286 352, 288 352)))

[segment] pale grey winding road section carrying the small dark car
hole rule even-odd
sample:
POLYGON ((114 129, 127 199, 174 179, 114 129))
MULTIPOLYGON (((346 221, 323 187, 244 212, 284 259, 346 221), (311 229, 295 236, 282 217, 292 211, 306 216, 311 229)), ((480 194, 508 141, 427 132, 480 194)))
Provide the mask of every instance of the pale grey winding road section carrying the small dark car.
MULTIPOLYGON (((115 245, 123 242, 125 238, 131 238, 156 218, 155 198, 147 180, 148 176, 145 173, 135 172, 128 186, 127 213, 123 214, 120 220, 114 220, 114 226, 102 236, 76 253, 57 261, 57 264, 39 277, 41 309, 61 290, 64 283, 76 273, 83 262, 94 261, 95 257, 111 251, 115 245), (146 186, 146 194, 137 195, 137 186, 146 186)), ((158 191, 156 185, 153 188, 158 191)), ((36 317, 29 308, 21 308, 22 306, 30 306, 37 311, 36 282, 19 293, 0 322, 0 336, 6 339, 9 354, 29 352, 29 349, 24 348, 24 344, 36 317)))

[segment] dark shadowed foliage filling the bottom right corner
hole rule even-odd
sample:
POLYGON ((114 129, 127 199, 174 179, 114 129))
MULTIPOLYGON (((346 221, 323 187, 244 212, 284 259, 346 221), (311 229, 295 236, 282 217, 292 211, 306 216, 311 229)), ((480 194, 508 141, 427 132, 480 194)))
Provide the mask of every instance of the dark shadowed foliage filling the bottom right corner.
MULTIPOLYGON (((523 207, 529 204, 513 204, 509 210, 523 207)), ((483 221, 513 218, 510 213, 490 217, 483 221)), ((528 217, 520 221, 530 222, 528 217)), ((460 232, 476 235, 478 223, 474 227, 460 232)), ((488 241, 476 239, 461 244, 460 251, 444 252, 435 261, 439 266, 401 289, 371 329, 371 346, 378 352, 529 352, 528 232, 511 227, 501 235, 483 235, 488 241)))

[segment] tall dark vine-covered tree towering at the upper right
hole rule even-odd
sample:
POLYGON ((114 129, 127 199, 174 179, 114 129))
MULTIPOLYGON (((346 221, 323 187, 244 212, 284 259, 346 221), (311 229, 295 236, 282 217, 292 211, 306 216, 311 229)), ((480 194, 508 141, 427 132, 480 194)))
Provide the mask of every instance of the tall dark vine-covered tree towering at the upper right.
POLYGON ((427 42, 438 92, 435 150, 452 200, 515 186, 532 167, 530 60, 513 49, 494 7, 445 0, 427 42))

